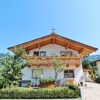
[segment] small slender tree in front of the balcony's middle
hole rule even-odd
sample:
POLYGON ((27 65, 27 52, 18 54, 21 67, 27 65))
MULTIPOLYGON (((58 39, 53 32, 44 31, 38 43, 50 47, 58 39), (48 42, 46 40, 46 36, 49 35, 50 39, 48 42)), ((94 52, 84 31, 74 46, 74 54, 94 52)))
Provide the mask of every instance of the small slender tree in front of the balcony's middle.
POLYGON ((61 73, 64 69, 62 60, 58 56, 53 57, 52 66, 55 70, 55 81, 57 82, 58 74, 61 73))

